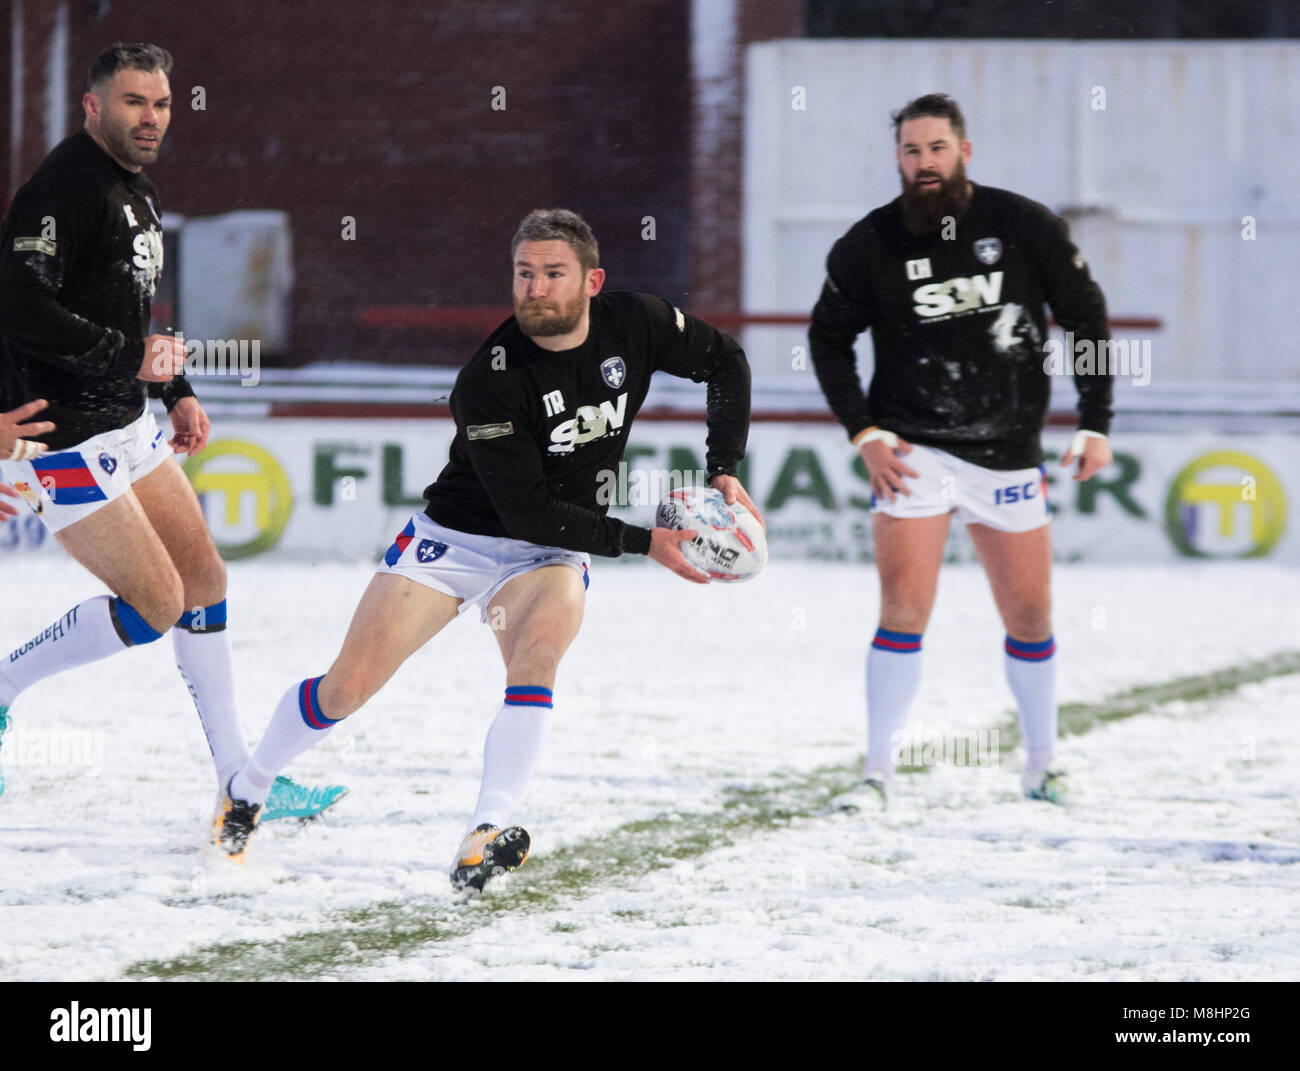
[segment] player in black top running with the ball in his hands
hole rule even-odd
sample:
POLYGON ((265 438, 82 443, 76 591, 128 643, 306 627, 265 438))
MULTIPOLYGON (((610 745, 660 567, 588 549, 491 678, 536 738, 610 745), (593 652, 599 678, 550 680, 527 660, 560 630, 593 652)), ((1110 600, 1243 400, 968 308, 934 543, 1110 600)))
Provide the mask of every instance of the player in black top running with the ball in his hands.
POLYGON ((530 213, 511 255, 515 316, 456 377, 456 435, 425 490, 428 508, 389 548, 329 672, 281 699, 216 816, 231 858, 242 858, 276 771, 477 604, 506 663, 506 699, 488 732, 478 802, 451 880, 481 889, 523 863, 528 834, 508 819, 541 754, 555 669, 582 620, 588 555, 647 554, 707 582, 681 556, 693 532, 607 517, 598 494, 618 469, 653 372, 707 382, 708 482, 758 512, 734 476, 749 432, 740 346, 659 298, 601 294, 595 238, 572 212, 530 213))

